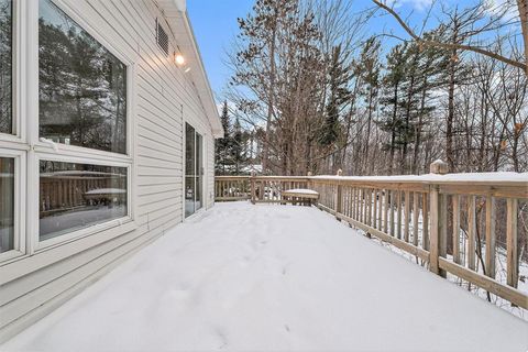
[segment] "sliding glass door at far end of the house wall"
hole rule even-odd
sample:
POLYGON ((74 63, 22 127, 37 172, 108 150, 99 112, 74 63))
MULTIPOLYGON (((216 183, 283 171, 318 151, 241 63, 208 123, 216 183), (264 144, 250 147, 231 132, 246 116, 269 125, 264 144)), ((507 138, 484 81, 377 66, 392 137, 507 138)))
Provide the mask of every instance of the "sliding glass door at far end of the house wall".
POLYGON ((202 205, 204 139, 190 124, 185 124, 185 217, 194 215, 202 205))

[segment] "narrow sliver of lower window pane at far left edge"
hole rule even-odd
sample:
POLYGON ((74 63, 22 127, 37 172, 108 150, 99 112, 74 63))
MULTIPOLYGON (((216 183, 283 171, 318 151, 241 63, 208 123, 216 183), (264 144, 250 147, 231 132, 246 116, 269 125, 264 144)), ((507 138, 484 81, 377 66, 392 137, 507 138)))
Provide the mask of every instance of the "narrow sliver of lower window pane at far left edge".
POLYGON ((14 160, 0 157, 0 253, 13 250, 14 160))

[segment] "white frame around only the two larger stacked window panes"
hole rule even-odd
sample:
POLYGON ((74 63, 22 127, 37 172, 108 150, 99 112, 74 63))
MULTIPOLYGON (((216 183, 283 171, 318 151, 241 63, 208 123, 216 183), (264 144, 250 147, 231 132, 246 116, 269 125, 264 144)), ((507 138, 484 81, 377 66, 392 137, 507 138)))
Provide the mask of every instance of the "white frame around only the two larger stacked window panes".
MULTIPOLYGON (((66 145, 56 143, 58 151, 55 151, 54 147, 47 143, 40 141, 38 133, 38 3, 40 0, 28 0, 31 4, 29 7, 28 16, 28 32, 33 33, 33 37, 28 38, 29 47, 33 51, 28 55, 28 73, 29 73, 29 101, 33 101, 31 105, 31 111, 28 112, 28 127, 29 127, 29 142, 30 142, 30 152, 28 157, 28 194, 34 195, 28 199, 28 219, 26 226, 26 237, 28 243, 28 254, 32 255, 42 251, 47 251, 50 249, 66 245, 70 242, 92 237, 101 232, 108 232, 109 235, 106 240, 110 240, 114 237, 122 235, 127 232, 133 231, 138 228, 136 223, 136 165, 134 162, 135 156, 135 82, 136 82, 136 55, 131 52, 123 50, 123 47, 118 47, 116 44, 119 43, 118 37, 112 34, 105 33, 101 26, 97 23, 90 23, 87 19, 90 19, 88 15, 82 15, 82 9, 72 7, 66 4, 62 0, 48 0, 59 10, 62 10, 67 16, 69 16, 74 22, 76 22, 84 31, 90 34, 96 41, 98 41, 109 53, 114 55, 125 67, 127 67, 127 152, 125 154, 99 151, 94 148, 88 148, 84 146, 76 145, 66 145), (97 29, 97 30, 96 30, 97 29), (70 232, 57 235, 56 238, 40 240, 40 161, 57 161, 66 163, 79 163, 79 164, 92 164, 92 165, 102 165, 102 166, 119 166, 127 167, 127 207, 128 213, 125 217, 112 219, 106 222, 101 222, 95 226, 89 226, 84 229, 73 230, 70 232)), ((97 19, 97 16, 95 16, 97 19)), ((96 22, 94 20, 92 22, 96 22)), ((98 243, 103 242, 100 237, 94 237, 94 241, 88 241, 89 246, 97 245, 98 243), (96 239, 98 238, 98 239, 96 239)), ((88 246, 88 248, 89 248, 88 246)))

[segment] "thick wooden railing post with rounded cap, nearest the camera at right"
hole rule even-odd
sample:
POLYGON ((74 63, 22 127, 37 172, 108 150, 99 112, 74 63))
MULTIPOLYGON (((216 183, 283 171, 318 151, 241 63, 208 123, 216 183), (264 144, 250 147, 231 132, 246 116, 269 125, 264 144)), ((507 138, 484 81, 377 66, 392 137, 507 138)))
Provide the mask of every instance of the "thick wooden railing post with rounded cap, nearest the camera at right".
MULTIPOLYGON (((448 173, 448 165, 442 161, 436 161, 430 167, 431 174, 444 175, 448 173)), ((448 208, 447 196, 440 194, 439 185, 430 186, 430 248, 429 270, 442 277, 447 276, 446 271, 439 267, 439 257, 446 257, 448 248, 448 208)))

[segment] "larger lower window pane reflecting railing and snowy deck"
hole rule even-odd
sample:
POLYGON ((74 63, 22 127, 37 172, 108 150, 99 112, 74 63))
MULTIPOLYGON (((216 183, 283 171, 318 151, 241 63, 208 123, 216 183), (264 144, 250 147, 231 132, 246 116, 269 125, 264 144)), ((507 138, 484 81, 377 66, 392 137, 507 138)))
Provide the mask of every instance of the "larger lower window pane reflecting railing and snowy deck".
POLYGON ((41 161, 40 238, 125 217, 127 168, 41 161))

